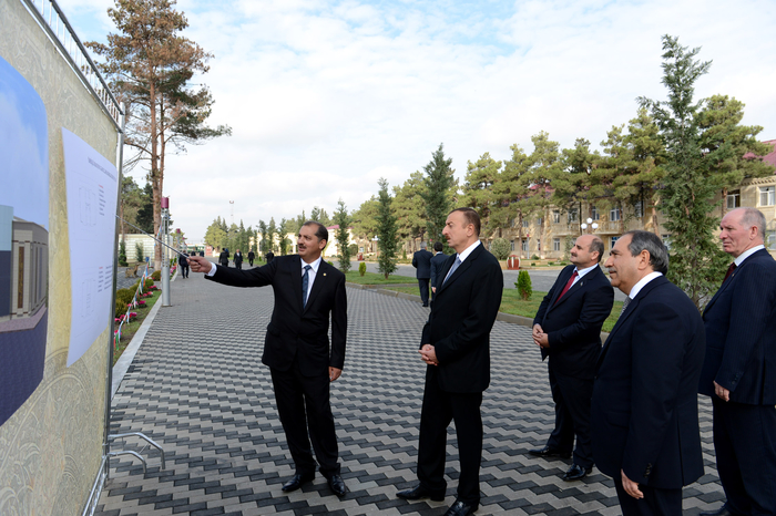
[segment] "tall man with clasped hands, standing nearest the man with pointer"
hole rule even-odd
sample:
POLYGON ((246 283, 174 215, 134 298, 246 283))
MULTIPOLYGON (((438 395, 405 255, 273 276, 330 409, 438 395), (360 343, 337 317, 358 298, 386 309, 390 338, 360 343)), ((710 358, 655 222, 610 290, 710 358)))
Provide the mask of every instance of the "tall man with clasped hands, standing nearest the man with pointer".
POLYGON ((461 474, 457 499, 445 514, 466 516, 480 503, 480 404, 490 383, 490 330, 501 305, 503 275, 480 242, 480 217, 473 209, 451 211, 442 235, 457 254, 442 267, 420 341, 420 358, 427 363, 418 444, 420 483, 397 496, 445 499, 447 427, 455 421, 461 474))

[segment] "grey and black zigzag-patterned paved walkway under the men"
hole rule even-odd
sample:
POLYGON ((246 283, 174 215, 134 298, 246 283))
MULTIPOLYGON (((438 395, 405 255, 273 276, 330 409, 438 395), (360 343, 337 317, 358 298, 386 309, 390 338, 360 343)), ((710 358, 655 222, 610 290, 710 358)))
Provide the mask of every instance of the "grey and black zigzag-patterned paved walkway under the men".
MULTIPOLYGON (((348 351, 331 390, 349 493, 331 495, 317 476, 284 494, 293 474, 275 410, 269 372, 261 364, 273 308, 268 288, 214 285, 192 274, 172 283, 173 307, 159 311, 113 400, 112 432, 144 432, 166 452, 144 452, 149 471, 130 457, 111 461, 98 514, 129 515, 441 515, 455 499, 458 455, 448 442, 443 503, 409 503, 396 492, 416 478, 423 364, 417 359, 427 309, 418 302, 348 289, 348 351), (196 277, 195 277, 196 276, 196 277)), ((616 515, 612 482, 594 471, 582 482, 559 476, 569 461, 543 461, 552 427, 547 365, 527 328, 497 322, 492 382, 484 394, 482 502, 478 515, 616 515)), ((684 489, 685 514, 716 508, 724 495, 714 469, 711 406, 704 400, 706 475, 684 489)), ((115 446, 118 450, 121 446, 115 446)), ((140 451, 135 438, 125 450, 140 451)))

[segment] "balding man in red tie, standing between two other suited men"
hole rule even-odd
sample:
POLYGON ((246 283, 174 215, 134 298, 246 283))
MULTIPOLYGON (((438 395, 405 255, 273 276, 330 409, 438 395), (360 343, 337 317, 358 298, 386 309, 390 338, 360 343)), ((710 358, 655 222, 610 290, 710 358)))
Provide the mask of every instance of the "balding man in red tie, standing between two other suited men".
POLYGON ((540 457, 571 456, 564 481, 579 481, 593 468, 590 444, 590 400, 601 352, 601 327, 612 312, 614 289, 599 267, 603 241, 582 235, 571 249, 571 264, 544 296, 533 319, 533 341, 542 360, 550 357, 550 390, 555 402, 555 429, 540 457))

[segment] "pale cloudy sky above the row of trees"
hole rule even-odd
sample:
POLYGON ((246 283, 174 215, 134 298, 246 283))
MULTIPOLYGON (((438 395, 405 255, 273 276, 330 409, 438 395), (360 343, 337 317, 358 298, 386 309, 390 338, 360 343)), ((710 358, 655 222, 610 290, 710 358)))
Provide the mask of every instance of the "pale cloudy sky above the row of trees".
MULTIPOLYGON (((83 41, 114 31, 111 0, 59 0, 83 41)), ((598 145, 665 97, 661 37, 712 60, 697 97, 746 104, 776 138, 773 0, 450 1, 180 0, 185 35, 214 54, 201 79, 212 123, 233 136, 170 158, 175 226, 198 240, 216 217, 255 226, 341 197, 357 208, 377 180, 404 183, 440 143, 468 161, 510 156, 547 131, 598 145)), ((133 173, 141 178, 141 171, 133 173)))

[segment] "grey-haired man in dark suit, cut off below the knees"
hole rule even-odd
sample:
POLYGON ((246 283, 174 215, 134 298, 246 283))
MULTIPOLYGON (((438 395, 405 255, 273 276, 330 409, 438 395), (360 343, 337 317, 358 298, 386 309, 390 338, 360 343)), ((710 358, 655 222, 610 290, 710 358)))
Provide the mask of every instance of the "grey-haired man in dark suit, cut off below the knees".
POLYGON ((681 515, 682 487, 703 475, 703 321, 663 276, 668 254, 653 233, 620 237, 605 267, 627 299, 598 361, 593 458, 614 479, 624 516, 681 515))

